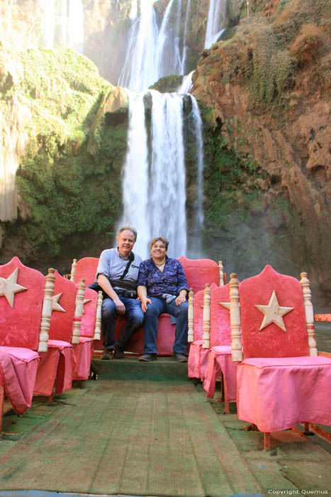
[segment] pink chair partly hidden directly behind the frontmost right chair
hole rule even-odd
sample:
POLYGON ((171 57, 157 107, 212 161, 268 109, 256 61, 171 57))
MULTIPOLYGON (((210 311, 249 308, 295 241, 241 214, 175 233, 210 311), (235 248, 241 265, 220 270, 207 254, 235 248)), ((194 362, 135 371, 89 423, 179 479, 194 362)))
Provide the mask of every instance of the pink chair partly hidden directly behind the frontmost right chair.
POLYGON ((229 402, 237 397, 237 364, 231 358, 230 286, 215 288, 211 292, 211 349, 208 354, 203 388, 207 398, 213 398, 216 378, 221 378, 225 413, 229 402))

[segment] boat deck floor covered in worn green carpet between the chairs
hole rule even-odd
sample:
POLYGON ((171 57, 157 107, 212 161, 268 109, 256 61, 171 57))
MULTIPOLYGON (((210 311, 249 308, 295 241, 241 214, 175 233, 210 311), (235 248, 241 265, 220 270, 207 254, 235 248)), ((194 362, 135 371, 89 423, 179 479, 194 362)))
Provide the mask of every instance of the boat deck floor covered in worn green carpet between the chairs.
MULTIPOLYGON (((4 416, 0 497, 52 492, 222 497, 330 491, 331 455, 291 431, 263 435, 223 415, 172 359, 94 361, 98 381, 4 416)), ((220 397, 217 392, 216 397, 220 397)))

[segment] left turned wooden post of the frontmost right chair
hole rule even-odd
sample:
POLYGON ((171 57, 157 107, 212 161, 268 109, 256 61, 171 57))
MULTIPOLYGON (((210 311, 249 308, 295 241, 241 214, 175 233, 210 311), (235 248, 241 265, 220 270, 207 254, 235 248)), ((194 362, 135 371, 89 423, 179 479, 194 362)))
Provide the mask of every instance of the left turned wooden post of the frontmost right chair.
POLYGON ((230 324, 232 361, 242 361, 240 333, 239 281, 235 273, 230 274, 230 324))

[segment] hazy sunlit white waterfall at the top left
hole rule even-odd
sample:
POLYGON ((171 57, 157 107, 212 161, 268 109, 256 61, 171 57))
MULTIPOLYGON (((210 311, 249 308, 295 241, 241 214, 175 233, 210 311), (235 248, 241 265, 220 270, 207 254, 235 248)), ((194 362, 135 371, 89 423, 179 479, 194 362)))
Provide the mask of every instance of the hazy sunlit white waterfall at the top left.
POLYGON ((39 6, 43 14, 42 44, 46 48, 54 48, 60 43, 64 47, 83 53, 82 0, 39 0, 39 6))

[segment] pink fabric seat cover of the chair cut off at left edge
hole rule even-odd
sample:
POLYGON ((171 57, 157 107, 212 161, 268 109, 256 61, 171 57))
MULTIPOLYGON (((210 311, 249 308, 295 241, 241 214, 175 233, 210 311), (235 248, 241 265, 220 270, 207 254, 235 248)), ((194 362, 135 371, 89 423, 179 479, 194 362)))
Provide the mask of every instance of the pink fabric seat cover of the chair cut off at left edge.
POLYGON ((16 414, 30 407, 39 354, 21 347, 0 347, 0 383, 16 414))

